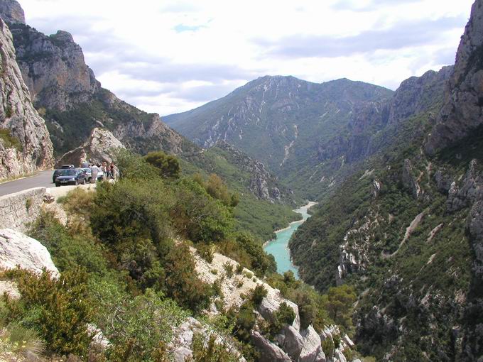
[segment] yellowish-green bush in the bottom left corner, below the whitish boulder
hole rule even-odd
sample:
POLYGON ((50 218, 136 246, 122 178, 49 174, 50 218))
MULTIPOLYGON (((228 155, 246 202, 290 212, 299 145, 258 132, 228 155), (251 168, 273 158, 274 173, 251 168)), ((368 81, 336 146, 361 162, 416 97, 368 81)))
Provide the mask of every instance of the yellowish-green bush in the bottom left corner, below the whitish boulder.
POLYGON ((87 295, 87 273, 72 270, 50 278, 27 270, 11 270, 22 295, 19 301, 6 300, 11 322, 36 329, 50 351, 60 355, 86 355, 90 343, 87 323, 92 317, 92 302, 87 295))

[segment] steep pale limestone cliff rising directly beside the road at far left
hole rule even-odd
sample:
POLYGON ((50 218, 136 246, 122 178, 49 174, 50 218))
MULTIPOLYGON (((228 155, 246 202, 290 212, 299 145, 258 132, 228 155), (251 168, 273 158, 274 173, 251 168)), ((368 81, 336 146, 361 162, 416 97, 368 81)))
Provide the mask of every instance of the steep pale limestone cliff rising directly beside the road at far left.
POLYGON ((0 45, 1 179, 52 168, 53 148, 18 69, 12 35, 1 19, 0 45))

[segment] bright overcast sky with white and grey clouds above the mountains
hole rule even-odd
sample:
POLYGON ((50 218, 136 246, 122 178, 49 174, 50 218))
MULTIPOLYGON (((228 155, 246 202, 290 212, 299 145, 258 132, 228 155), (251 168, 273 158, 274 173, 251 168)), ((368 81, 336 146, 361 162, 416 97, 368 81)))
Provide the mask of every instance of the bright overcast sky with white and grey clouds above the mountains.
POLYGON ((119 98, 161 115, 263 75, 396 89, 455 62, 472 0, 18 0, 29 25, 69 31, 119 98))

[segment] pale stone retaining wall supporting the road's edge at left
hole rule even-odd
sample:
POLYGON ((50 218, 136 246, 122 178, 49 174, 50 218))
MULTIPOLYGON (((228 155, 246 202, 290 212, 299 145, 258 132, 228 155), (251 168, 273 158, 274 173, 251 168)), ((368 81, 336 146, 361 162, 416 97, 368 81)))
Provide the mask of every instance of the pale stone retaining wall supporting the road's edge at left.
POLYGON ((43 205, 45 187, 36 187, 0 197, 0 229, 26 231, 36 221, 43 205))

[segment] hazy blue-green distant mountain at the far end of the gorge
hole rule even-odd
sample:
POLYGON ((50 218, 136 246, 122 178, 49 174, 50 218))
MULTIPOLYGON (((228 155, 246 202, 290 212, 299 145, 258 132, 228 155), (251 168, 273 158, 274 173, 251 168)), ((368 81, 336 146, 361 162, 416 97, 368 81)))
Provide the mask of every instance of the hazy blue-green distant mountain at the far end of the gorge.
POLYGON ((386 128, 442 102, 451 71, 444 67, 411 77, 396 92, 348 79, 315 84, 261 77, 164 120, 200 146, 234 144, 295 192, 319 199, 384 147, 386 128))

